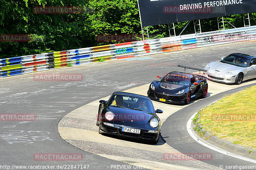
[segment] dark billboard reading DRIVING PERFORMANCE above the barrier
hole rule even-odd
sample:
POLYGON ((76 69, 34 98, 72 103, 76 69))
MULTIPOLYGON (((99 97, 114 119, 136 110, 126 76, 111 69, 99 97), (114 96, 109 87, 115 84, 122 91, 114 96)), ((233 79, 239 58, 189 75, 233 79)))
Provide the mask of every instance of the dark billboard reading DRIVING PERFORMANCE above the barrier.
POLYGON ((138 0, 142 26, 256 11, 255 0, 138 0))

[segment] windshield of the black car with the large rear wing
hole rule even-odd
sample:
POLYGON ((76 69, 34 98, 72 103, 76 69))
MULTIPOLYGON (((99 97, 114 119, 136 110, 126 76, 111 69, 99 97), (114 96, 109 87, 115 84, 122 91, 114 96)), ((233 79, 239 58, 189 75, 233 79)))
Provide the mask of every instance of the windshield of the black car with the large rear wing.
POLYGON ((183 75, 166 74, 162 80, 176 85, 189 85, 189 78, 183 75))

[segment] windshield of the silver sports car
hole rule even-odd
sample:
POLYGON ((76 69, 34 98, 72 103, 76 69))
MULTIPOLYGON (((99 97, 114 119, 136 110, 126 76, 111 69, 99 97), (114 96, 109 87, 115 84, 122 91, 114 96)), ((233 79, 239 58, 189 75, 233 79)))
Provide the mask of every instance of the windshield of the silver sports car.
POLYGON ((250 59, 242 56, 228 55, 220 62, 235 65, 238 67, 246 67, 247 64, 250 62, 250 59))

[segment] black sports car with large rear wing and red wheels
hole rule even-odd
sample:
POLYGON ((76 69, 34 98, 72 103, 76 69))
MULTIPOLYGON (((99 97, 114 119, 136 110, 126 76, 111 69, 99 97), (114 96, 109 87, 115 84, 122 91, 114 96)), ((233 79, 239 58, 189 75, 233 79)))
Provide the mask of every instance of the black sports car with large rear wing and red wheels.
MULTIPOLYGON (((180 66, 193 70, 203 70, 193 67, 180 66)), ((151 100, 166 103, 188 104, 192 98, 207 96, 208 80, 197 74, 172 71, 166 74, 160 81, 153 81, 148 88, 148 97, 151 100)))

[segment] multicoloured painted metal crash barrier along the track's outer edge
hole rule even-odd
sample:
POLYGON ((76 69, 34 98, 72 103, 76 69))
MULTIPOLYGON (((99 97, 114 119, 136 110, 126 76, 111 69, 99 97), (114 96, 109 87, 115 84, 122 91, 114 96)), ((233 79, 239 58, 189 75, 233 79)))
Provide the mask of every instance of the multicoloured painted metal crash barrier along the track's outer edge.
POLYGON ((256 39, 256 26, 0 59, 0 77, 256 39))

